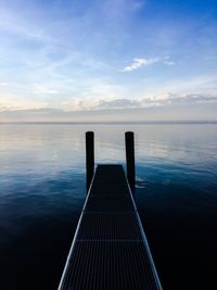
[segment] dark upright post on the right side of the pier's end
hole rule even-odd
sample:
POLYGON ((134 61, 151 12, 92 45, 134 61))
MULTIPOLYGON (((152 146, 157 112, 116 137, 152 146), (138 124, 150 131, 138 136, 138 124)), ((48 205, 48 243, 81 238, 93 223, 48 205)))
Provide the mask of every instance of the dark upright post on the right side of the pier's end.
POLYGON ((125 133, 127 178, 132 193, 135 193, 135 134, 125 133))

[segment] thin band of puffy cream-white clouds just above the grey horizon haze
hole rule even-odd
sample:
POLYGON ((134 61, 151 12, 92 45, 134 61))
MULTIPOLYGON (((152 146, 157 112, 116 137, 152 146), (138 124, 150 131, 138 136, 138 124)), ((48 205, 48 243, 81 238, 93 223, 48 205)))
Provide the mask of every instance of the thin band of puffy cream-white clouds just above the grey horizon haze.
POLYGON ((158 106, 179 106, 179 105, 197 105, 197 104, 217 104, 216 94, 176 94, 168 92, 167 97, 159 98, 157 96, 150 98, 142 98, 140 100, 133 99, 118 99, 110 98, 108 100, 86 100, 81 98, 73 101, 64 102, 59 109, 50 108, 48 103, 14 103, 13 105, 0 103, 0 112, 16 112, 16 111, 41 111, 41 112, 90 112, 90 111, 125 111, 128 109, 149 109, 158 106))

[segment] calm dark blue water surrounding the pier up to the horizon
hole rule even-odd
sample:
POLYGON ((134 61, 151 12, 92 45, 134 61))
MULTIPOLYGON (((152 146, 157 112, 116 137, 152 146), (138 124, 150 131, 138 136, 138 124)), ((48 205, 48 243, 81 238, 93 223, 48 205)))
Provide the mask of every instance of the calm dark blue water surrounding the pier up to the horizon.
POLYGON ((1 125, 0 289, 56 289, 95 162, 125 165, 136 134, 136 202, 164 289, 217 289, 217 125, 1 125))

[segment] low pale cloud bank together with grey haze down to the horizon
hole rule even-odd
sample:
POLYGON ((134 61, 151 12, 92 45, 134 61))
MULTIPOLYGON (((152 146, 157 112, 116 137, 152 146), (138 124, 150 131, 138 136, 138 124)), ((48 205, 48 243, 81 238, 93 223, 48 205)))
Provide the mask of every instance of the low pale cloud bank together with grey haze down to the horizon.
POLYGON ((110 98, 103 100, 77 98, 52 108, 49 103, 2 103, 0 122, 111 122, 111 121, 215 121, 217 93, 177 94, 164 98, 110 98))

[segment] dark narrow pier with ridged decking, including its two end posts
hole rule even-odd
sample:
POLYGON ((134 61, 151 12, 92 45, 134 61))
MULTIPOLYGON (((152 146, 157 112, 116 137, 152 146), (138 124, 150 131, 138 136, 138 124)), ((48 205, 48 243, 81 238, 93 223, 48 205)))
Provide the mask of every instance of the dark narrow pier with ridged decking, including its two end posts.
POLYGON ((133 199, 133 134, 126 133, 122 165, 94 171, 93 133, 86 134, 87 198, 59 290, 161 290, 133 199))

